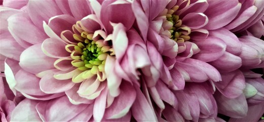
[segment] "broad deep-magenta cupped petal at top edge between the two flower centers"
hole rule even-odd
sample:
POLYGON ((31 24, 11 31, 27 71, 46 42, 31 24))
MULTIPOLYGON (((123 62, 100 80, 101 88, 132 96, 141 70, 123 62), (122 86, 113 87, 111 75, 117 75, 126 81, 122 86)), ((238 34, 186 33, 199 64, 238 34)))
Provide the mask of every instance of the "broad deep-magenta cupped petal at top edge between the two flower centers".
POLYGON ((126 1, 104 1, 101 10, 101 21, 105 25, 108 34, 111 34, 113 31, 110 22, 122 23, 127 31, 135 21, 131 3, 126 1))

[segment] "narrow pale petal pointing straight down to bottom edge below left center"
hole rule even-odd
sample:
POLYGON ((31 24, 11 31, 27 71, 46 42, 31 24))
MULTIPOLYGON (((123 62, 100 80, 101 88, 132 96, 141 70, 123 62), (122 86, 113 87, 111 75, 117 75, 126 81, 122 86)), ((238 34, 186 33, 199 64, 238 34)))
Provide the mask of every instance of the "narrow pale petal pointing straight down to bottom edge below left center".
POLYGON ((95 121, 101 121, 106 108, 107 89, 104 89, 99 97, 94 101, 93 118, 95 121))

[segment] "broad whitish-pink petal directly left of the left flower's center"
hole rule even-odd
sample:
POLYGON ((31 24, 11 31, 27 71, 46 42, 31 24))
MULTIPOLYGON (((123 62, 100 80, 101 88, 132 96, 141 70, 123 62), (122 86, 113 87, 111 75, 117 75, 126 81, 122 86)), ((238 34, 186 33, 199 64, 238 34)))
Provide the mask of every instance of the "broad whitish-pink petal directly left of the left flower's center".
POLYGON ((55 58, 46 56, 41 50, 41 44, 37 44, 22 52, 19 65, 25 71, 37 74, 45 70, 54 69, 53 63, 55 60, 55 58))

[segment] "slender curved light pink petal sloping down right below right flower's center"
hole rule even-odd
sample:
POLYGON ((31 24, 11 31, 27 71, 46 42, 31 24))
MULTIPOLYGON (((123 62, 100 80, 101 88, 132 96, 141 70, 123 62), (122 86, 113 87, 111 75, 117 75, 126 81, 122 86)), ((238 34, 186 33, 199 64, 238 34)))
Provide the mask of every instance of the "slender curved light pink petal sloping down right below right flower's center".
POLYGON ((196 59, 187 58, 184 60, 184 63, 195 65, 196 68, 204 71, 206 75, 215 82, 221 80, 220 73, 214 67, 212 67, 211 65, 205 62, 196 59))

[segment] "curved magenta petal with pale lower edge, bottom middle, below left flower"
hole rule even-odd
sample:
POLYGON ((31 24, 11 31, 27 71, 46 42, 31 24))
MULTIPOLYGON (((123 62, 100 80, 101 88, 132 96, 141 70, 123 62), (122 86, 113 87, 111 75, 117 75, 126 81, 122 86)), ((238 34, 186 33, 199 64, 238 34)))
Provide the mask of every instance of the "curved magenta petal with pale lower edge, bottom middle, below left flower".
POLYGON ((120 85, 120 95, 117 96, 113 104, 106 109, 106 118, 120 118, 127 114, 136 99, 136 91, 128 82, 120 85))

